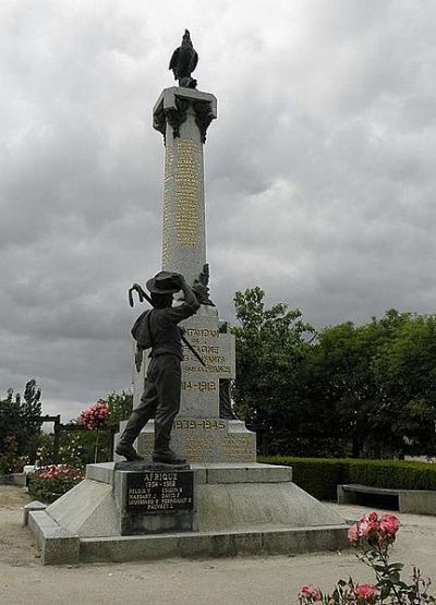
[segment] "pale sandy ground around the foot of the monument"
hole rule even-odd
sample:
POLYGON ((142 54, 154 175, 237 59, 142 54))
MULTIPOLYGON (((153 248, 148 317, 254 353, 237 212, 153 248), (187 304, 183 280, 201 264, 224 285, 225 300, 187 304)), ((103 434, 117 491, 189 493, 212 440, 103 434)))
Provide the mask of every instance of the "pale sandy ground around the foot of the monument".
MULTIPOLYGON (((31 534, 21 527, 26 498, 20 488, 0 486, 0 605, 294 605, 305 583, 328 590, 350 574, 373 579, 352 552, 43 567, 31 534)), ((367 511, 326 506, 347 520, 367 511)), ((436 585, 436 517, 399 517, 392 561, 405 562, 408 572, 417 565, 436 585)))

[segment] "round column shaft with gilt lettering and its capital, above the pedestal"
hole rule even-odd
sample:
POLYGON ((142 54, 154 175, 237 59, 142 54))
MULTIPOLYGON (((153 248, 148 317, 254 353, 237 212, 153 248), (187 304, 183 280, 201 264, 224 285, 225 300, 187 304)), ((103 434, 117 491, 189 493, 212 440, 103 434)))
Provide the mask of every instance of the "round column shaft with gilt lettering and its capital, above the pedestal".
POLYGON ((166 88, 153 116, 166 149, 162 270, 181 273, 192 283, 206 263, 203 145, 217 99, 191 88, 166 88))

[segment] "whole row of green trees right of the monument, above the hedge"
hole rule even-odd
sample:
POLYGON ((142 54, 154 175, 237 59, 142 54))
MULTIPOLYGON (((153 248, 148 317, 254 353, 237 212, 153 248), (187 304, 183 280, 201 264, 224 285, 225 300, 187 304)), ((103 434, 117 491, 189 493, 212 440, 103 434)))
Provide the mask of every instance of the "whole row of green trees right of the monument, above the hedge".
POLYGON ((264 297, 258 287, 234 297, 233 395, 271 453, 436 452, 436 316, 390 310, 315 332, 264 297))

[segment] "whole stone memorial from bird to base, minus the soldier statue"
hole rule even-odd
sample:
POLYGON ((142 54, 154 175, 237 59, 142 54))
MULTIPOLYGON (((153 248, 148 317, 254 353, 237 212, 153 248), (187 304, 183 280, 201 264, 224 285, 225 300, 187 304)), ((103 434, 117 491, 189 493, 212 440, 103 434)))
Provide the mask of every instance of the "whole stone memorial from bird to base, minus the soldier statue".
MULTIPOLYGON (((173 463, 156 457, 149 420, 134 441, 137 457, 88 464, 86 479, 57 501, 28 505, 28 525, 45 565, 296 554, 337 549, 347 542, 348 525, 292 482, 291 468, 256 463, 256 436, 231 411, 234 338, 209 293, 206 246, 203 158, 217 99, 196 88, 191 75, 196 62, 185 32, 170 63, 178 85, 166 88, 153 110, 153 126, 165 145, 161 270, 184 276, 198 303, 181 324, 173 463)), ((146 295, 134 283, 131 304, 135 292, 140 300, 146 295)), ((181 299, 175 294, 174 308, 185 304, 181 299)), ((138 347, 133 418, 153 362, 138 347)), ((117 444, 128 422, 121 424, 117 444)))

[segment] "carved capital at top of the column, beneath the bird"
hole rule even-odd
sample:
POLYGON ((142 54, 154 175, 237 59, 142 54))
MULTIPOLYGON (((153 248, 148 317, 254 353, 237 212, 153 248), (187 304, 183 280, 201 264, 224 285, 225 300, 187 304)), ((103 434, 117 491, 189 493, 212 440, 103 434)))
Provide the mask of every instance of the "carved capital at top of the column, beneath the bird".
POLYGON ((166 123, 172 128, 174 138, 180 136, 180 124, 186 120, 189 109, 194 111, 202 143, 206 142, 206 132, 213 120, 217 118, 217 98, 210 93, 202 93, 183 86, 165 88, 154 109, 153 128, 166 136, 166 123))

